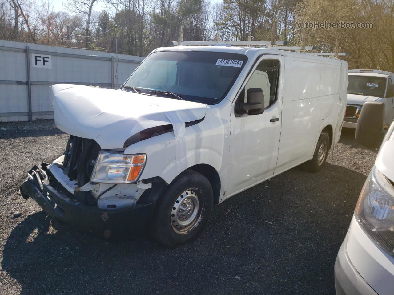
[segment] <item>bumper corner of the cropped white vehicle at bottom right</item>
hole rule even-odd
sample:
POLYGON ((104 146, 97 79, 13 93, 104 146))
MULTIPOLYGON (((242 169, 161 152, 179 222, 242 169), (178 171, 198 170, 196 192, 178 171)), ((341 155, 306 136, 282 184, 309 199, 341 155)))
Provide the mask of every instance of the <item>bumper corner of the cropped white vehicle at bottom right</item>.
POLYGON ((346 245, 348 234, 342 243, 335 260, 336 295, 378 295, 361 277, 351 263, 346 245))

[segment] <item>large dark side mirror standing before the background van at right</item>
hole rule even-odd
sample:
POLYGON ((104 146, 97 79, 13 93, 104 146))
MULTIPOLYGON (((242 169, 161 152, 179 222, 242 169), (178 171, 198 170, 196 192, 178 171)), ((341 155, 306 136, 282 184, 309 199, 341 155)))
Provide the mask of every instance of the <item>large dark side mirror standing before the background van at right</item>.
POLYGON ((357 142, 371 149, 378 149, 385 136, 383 131, 384 120, 385 105, 383 102, 368 101, 364 103, 357 120, 357 142))

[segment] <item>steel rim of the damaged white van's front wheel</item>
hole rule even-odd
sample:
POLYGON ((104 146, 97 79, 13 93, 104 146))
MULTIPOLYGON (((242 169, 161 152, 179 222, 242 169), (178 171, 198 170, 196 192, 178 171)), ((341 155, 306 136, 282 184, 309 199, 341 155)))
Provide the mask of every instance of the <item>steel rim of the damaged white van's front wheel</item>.
POLYGON ((187 234, 197 227, 203 217, 203 193, 189 188, 178 196, 171 209, 171 227, 177 234, 187 234))

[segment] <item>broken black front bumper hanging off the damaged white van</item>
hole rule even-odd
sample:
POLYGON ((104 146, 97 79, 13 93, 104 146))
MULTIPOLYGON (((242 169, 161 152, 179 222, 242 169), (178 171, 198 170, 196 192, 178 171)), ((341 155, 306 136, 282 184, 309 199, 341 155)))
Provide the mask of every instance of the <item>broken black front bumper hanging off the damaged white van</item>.
POLYGON ((120 237, 130 231, 143 229, 147 225, 155 203, 137 204, 119 210, 85 205, 50 185, 50 171, 46 170, 47 165, 42 163, 39 167, 34 166, 21 184, 20 192, 24 199, 31 197, 49 216, 60 223, 101 238, 120 237))

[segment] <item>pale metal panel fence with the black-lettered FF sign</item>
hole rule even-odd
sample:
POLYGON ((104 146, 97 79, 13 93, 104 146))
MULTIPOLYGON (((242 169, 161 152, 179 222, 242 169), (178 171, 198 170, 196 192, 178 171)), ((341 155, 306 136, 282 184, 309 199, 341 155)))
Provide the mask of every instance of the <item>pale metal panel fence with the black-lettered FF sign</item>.
POLYGON ((118 89, 143 59, 0 40, 0 122, 28 121, 30 116, 32 120, 52 119, 50 85, 118 89))

